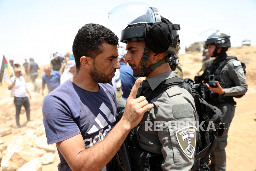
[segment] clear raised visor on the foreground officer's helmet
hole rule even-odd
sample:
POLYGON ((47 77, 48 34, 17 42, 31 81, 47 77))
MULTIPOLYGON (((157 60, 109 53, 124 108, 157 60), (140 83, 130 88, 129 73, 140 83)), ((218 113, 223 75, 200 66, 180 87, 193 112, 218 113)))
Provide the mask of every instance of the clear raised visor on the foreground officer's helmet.
POLYGON ((156 22, 153 9, 150 9, 146 3, 142 2, 129 2, 116 6, 109 11, 108 17, 119 33, 121 33, 128 25, 156 22), (143 17, 138 20, 137 18, 140 16, 143 17))

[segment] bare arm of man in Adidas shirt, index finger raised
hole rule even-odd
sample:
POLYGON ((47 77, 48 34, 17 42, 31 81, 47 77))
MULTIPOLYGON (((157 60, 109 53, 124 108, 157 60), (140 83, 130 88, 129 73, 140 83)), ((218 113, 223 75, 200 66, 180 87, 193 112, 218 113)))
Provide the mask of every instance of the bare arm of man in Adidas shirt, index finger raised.
POLYGON ((140 82, 141 80, 138 79, 131 90, 122 119, 102 141, 85 149, 84 140, 81 134, 78 134, 56 143, 73 171, 101 170, 117 153, 130 130, 141 121, 143 114, 153 108, 145 97, 136 98, 140 82))

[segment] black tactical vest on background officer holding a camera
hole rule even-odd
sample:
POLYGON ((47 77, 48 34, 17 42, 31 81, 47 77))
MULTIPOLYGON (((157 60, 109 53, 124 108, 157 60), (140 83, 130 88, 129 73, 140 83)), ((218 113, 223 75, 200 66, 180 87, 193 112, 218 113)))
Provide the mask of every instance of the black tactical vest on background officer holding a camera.
MULTIPOLYGON (((207 66, 206 69, 204 70, 204 85, 205 83, 209 83, 209 76, 213 75, 215 76, 215 81, 218 81, 221 85, 221 87, 224 88, 231 88, 235 85, 231 85, 231 86, 226 86, 224 82, 221 81, 220 76, 221 76, 221 70, 223 69, 223 67, 227 64, 227 62, 229 62, 229 60, 231 59, 235 59, 238 61, 238 59, 236 57, 229 57, 227 58, 227 54, 225 54, 224 56, 221 57, 220 61, 213 63, 211 66, 207 66)), ((242 67, 244 69, 245 72, 245 64, 241 63, 242 67)), ((202 76, 203 76, 202 75, 202 76)), ((196 78, 195 78, 196 79, 196 78)), ((221 104, 221 103, 229 103, 232 105, 236 105, 237 103, 234 101, 233 96, 223 96, 222 94, 218 94, 215 93, 213 91, 211 91, 210 89, 204 88, 204 92, 205 92, 205 96, 204 99, 205 101, 207 101, 209 104, 211 105, 217 105, 217 104, 221 104)), ((240 96, 234 96, 237 98, 242 97, 243 95, 240 96)))

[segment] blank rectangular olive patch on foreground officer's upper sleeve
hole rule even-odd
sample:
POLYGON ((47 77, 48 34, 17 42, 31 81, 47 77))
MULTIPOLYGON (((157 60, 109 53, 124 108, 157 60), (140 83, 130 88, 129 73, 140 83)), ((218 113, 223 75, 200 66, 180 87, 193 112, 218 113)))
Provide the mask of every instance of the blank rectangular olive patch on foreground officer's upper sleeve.
POLYGON ((174 118, 192 117, 193 107, 190 103, 176 104, 172 106, 172 112, 174 118))

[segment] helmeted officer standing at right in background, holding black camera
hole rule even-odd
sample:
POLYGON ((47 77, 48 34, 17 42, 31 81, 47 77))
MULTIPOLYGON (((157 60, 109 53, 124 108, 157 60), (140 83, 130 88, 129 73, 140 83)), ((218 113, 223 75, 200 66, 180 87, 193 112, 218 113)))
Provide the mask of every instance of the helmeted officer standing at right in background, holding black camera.
MULTIPOLYGON (((209 32, 209 30, 206 30, 209 32)), ((204 35, 202 32, 200 35, 204 35)), ((230 36, 215 30, 206 40, 208 53, 211 57, 216 57, 211 66, 204 70, 201 79, 206 85, 205 100, 221 109, 221 122, 224 132, 218 138, 217 145, 214 148, 211 157, 211 171, 226 170, 226 153, 227 137, 230 123, 235 114, 235 105, 233 97, 240 98, 247 91, 245 65, 236 57, 229 57, 226 54, 231 47, 230 36)))

